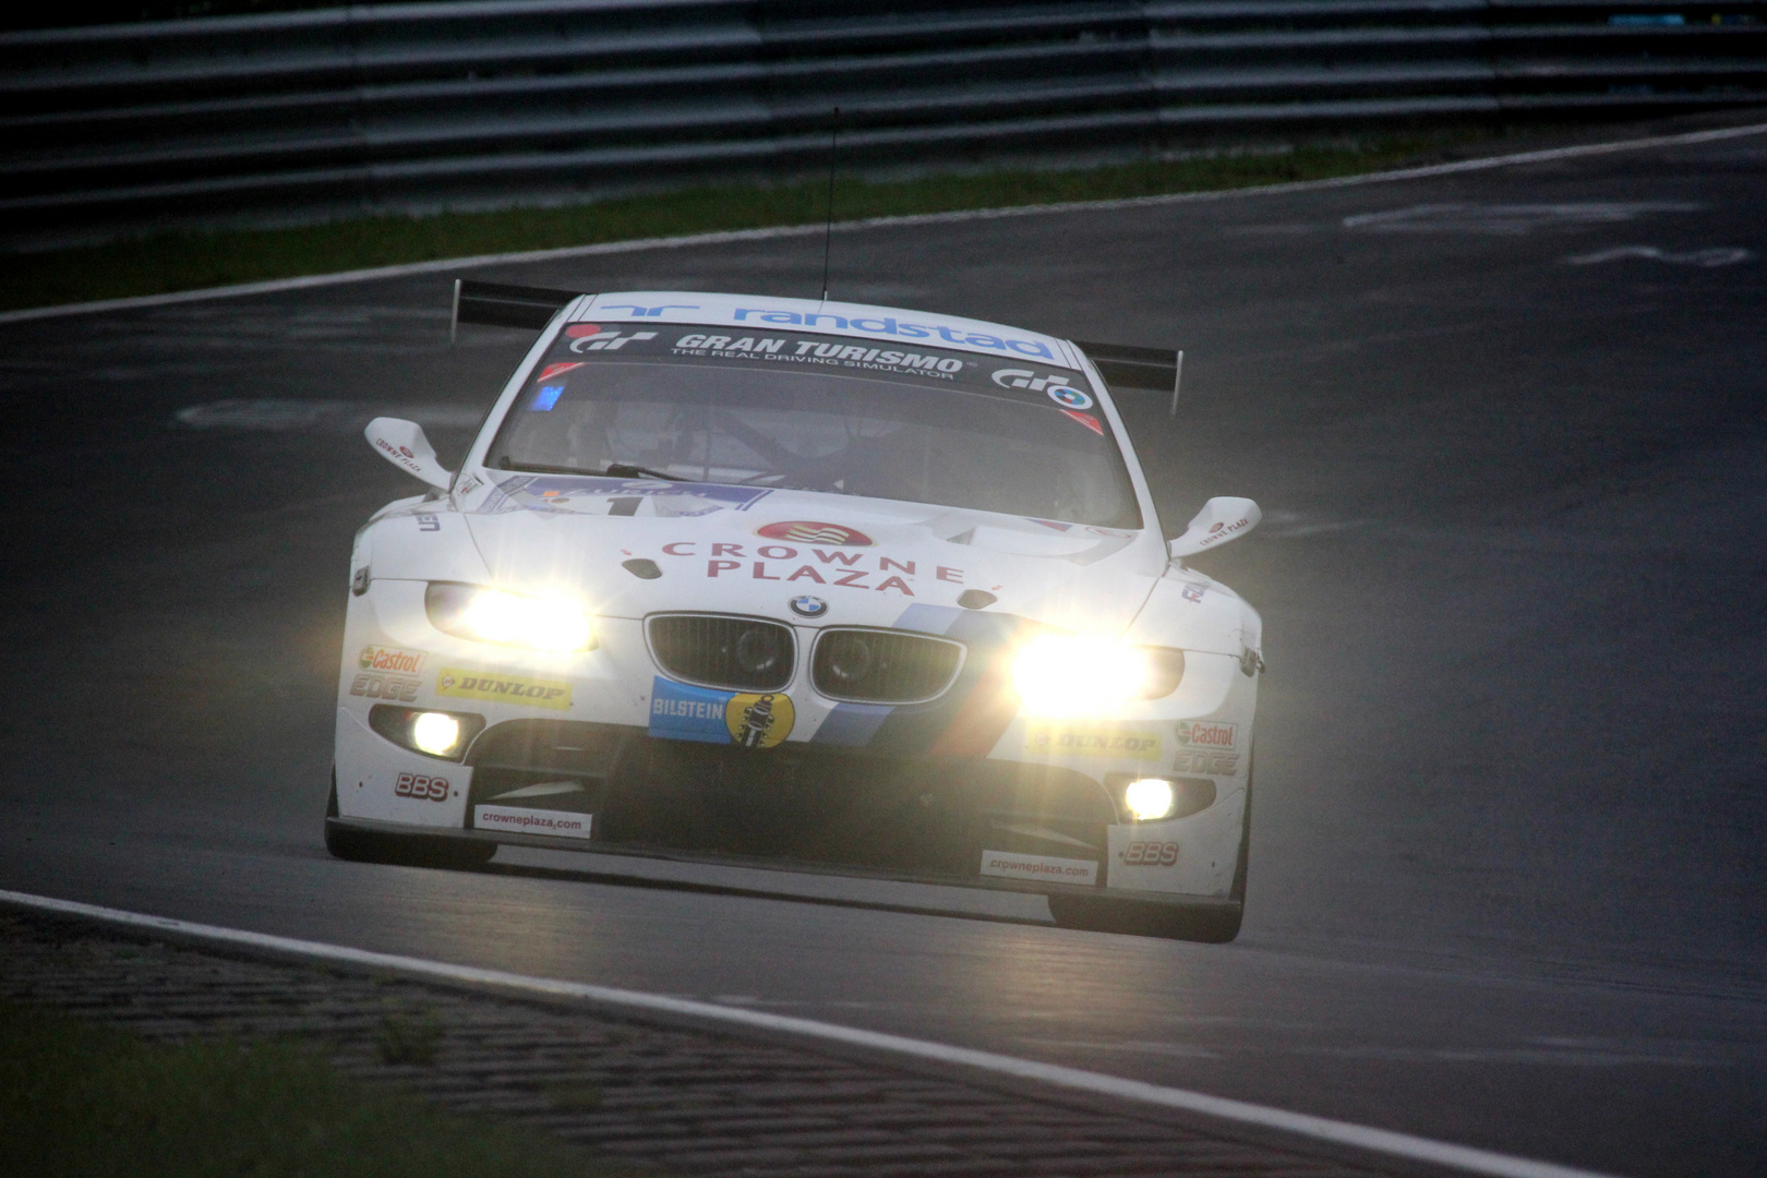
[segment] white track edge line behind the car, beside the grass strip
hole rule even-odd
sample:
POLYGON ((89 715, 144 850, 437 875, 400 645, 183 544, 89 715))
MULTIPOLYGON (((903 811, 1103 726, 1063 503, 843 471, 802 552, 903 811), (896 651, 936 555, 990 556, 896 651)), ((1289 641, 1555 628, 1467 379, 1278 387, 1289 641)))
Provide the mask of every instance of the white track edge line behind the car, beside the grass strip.
MULTIPOLYGON (((1449 164, 1424 164, 1419 168, 1396 168, 1392 171, 1364 171, 1354 177, 1332 177, 1329 180, 1293 180, 1290 184, 1262 184, 1242 189, 1210 189, 1207 193, 1163 193, 1159 196, 1124 196, 1094 201, 1062 201, 1055 205, 1012 205, 1007 208, 959 208, 952 212, 922 212, 901 217, 866 217, 862 221, 839 221, 832 226, 836 233, 857 230, 876 230, 891 226, 915 224, 958 224, 963 221, 997 221, 1002 217, 1041 217, 1064 212, 1108 212, 1113 208, 1145 208, 1152 205, 1180 205, 1193 201, 1228 200, 1235 196, 1279 196, 1285 193, 1315 193, 1323 189, 1359 187, 1364 184, 1387 184, 1394 180, 1424 180, 1430 177, 1458 175, 1461 171, 1488 171, 1491 168, 1511 168, 1516 164, 1537 164, 1555 159, 1580 159, 1583 155, 1612 155, 1615 152, 1636 152, 1650 147, 1687 147, 1696 143, 1716 143, 1749 134, 1767 132, 1767 124, 1748 124, 1744 127, 1716 127, 1710 131, 1686 131, 1682 134, 1659 134, 1643 140, 1613 140, 1608 143, 1581 143, 1576 147, 1551 147, 1537 152, 1516 152, 1513 155, 1486 155, 1483 159, 1461 159, 1449 164)), ((783 224, 762 230, 726 230, 719 233, 689 233, 684 237, 645 237, 629 242, 601 242, 595 245, 562 245, 558 249, 530 249, 512 254, 474 254, 468 258, 436 258, 433 261, 406 261, 392 267, 371 267, 366 270, 339 270, 336 274, 307 274, 302 277, 269 279, 263 283, 240 283, 237 286, 209 286, 203 290, 180 290, 168 295, 136 295, 131 298, 101 298, 94 302, 64 302, 53 307, 27 307, 21 311, 0 311, 0 323, 23 323, 27 320, 48 320, 67 314, 99 314, 102 311, 131 311, 138 307, 164 307, 178 302, 198 302, 207 298, 239 298, 244 295, 272 295, 284 290, 307 290, 311 286, 343 286, 346 283, 371 283, 375 279, 406 277, 415 274, 436 274, 447 270, 470 270, 489 265, 519 265, 528 261, 557 261, 562 258, 594 258, 603 254, 629 254, 647 249, 687 249, 691 245, 726 245, 732 242, 763 242, 779 237, 808 237, 822 233, 820 224, 783 224)))

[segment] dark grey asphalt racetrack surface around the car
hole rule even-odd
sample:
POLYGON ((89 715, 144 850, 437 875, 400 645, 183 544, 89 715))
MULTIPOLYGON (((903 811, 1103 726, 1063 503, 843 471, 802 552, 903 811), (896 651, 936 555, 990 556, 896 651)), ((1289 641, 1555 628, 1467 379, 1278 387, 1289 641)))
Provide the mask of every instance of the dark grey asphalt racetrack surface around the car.
MULTIPOLYGON (((1186 350, 1177 420, 1127 404, 1163 523, 1265 509, 1198 562, 1270 664, 1230 947, 908 885, 327 858, 350 533, 417 486, 355 427, 419 406, 458 454, 527 339, 449 348, 436 276, 0 325, 0 887, 1762 1173, 1763 208, 1758 136, 834 238, 839 298, 1186 350), (343 404, 173 424, 219 401, 343 404), (910 911, 945 906, 990 918, 910 911)), ((474 276, 813 295, 820 249, 474 276)))

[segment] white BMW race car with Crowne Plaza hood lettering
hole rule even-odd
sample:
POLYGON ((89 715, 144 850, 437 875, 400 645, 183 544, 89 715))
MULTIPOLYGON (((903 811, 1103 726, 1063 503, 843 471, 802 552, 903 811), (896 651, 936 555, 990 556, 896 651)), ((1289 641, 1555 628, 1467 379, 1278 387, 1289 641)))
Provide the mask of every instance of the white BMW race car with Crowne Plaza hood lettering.
POLYGON ((327 848, 498 844, 1044 894, 1232 940, 1258 613, 1164 542, 1110 385, 1175 355, 894 307, 456 284, 537 328, 357 533, 327 848))

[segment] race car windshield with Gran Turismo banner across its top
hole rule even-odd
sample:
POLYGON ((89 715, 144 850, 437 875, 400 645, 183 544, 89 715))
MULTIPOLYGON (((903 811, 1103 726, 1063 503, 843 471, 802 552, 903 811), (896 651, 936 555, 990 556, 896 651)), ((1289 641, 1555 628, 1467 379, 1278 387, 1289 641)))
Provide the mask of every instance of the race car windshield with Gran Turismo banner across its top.
POLYGON ((1141 526, 1080 373, 797 332, 573 323, 486 464, 1141 526))

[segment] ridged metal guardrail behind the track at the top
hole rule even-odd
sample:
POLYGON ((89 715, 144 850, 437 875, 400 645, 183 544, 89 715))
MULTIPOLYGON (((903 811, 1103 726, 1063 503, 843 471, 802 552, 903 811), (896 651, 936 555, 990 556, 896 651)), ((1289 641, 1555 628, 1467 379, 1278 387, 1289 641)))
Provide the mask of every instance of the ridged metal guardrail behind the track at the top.
POLYGON ((470 0, 0 35, 0 214, 594 194, 668 175, 1767 101, 1767 2, 470 0))

